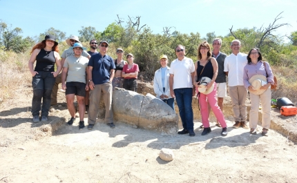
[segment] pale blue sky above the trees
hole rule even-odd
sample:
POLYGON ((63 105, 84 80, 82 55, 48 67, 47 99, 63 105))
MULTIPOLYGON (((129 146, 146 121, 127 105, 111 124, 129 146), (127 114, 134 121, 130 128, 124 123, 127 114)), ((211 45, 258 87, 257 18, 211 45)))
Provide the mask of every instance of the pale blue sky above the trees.
POLYGON ((34 37, 48 28, 79 35, 82 26, 93 26, 103 31, 115 22, 117 15, 128 21, 141 16, 140 25, 146 24, 154 33, 162 33, 163 27, 173 27, 182 33, 207 32, 225 36, 229 28, 260 28, 268 26, 283 11, 276 23, 290 23, 279 28, 277 35, 289 35, 297 31, 296 0, 0 0, 0 19, 23 30, 23 36, 34 37))

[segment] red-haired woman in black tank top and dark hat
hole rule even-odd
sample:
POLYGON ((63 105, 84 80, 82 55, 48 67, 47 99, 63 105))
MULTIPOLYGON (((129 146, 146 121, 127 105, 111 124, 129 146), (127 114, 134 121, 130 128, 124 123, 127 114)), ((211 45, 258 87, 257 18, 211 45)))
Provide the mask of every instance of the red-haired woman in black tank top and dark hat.
POLYGON ((32 115, 33 122, 39 122, 39 111, 41 110, 41 122, 48 121, 48 110, 50 110, 50 94, 55 84, 55 77, 61 71, 61 58, 59 56, 58 43, 52 35, 46 35, 44 41, 35 45, 31 50, 28 67, 32 75, 33 99, 32 115), (35 69, 33 65, 36 61, 35 69), (55 64, 57 71, 55 72, 55 64), (42 99, 42 108, 41 108, 42 99))

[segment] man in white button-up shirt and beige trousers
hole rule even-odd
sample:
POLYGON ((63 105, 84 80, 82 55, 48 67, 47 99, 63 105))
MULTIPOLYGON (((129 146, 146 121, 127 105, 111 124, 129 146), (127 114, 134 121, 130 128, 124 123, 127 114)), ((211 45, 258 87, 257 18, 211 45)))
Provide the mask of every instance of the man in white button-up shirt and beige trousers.
POLYGON ((247 121, 247 89, 243 85, 243 68, 247 65, 247 54, 240 52, 240 41, 231 42, 232 53, 224 61, 224 72, 228 76, 229 95, 231 97, 235 124, 233 128, 248 129, 247 121))

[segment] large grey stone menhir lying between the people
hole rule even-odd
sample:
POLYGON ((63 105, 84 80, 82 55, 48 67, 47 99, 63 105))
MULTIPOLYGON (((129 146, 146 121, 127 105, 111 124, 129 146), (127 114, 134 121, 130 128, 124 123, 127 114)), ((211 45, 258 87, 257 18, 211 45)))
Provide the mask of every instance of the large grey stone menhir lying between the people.
MULTIPOLYGON (((99 117, 104 118, 103 101, 100 103, 99 117)), ((178 133, 178 115, 162 100, 149 93, 144 96, 120 88, 113 90, 113 119, 115 122, 124 122, 164 135, 178 133)))

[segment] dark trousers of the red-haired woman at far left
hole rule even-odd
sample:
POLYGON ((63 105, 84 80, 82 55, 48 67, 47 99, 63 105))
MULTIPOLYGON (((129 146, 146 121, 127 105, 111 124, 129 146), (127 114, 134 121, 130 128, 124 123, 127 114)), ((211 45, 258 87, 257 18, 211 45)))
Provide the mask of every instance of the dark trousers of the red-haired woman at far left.
POLYGON ((50 110, 50 95, 56 79, 54 75, 48 71, 37 71, 37 73, 38 74, 32 77, 33 99, 31 112, 32 115, 35 116, 39 115, 39 110, 41 110, 41 115, 48 116, 48 110, 50 110))

